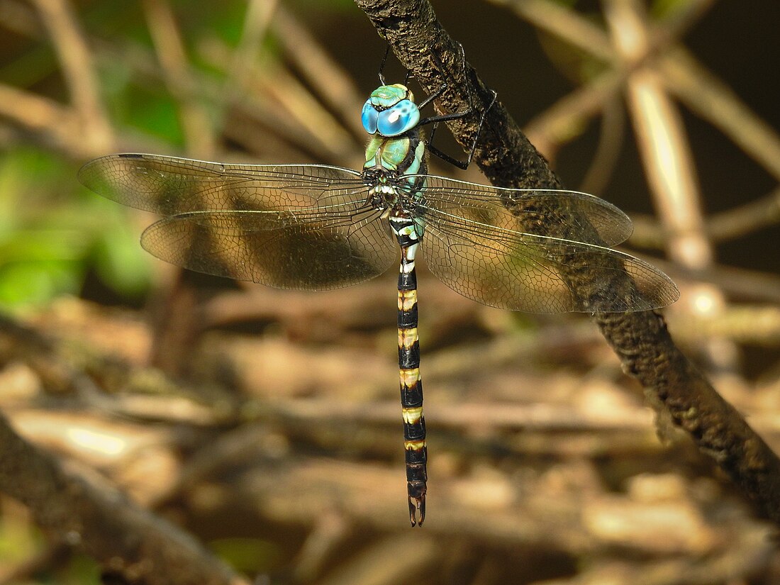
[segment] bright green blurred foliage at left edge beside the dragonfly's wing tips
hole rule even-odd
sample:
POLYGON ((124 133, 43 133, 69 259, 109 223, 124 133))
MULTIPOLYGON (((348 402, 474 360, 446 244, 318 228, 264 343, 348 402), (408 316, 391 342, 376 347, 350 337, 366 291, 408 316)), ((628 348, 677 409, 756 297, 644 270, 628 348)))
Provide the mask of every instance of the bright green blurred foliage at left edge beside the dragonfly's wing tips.
POLYGON ((43 151, 0 156, 0 307, 78 294, 90 270, 120 295, 147 289, 149 263, 129 212, 81 187, 76 170, 43 151))

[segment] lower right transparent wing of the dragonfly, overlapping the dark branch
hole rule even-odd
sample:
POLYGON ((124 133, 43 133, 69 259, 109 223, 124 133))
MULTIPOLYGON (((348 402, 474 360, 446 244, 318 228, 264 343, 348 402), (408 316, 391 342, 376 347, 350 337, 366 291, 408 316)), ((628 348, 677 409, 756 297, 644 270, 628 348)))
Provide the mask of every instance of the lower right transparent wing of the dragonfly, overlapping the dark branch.
POLYGON ((529 313, 614 313, 665 307, 679 298, 667 275, 638 258, 594 244, 516 232, 469 218, 470 207, 453 215, 423 207, 422 250, 441 282, 491 307, 529 313), (636 287, 626 289, 622 271, 636 287), (573 282, 587 271, 589 278, 573 282), (586 296, 586 282, 600 281, 586 296))

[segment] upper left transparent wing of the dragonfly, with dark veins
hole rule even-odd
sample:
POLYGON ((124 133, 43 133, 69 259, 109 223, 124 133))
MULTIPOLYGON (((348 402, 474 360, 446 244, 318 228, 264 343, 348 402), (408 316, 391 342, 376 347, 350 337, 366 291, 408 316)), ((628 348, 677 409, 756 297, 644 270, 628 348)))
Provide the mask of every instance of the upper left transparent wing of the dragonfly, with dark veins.
POLYGON ((79 180, 95 193, 159 215, 277 211, 363 204, 360 174, 328 165, 228 165, 154 154, 111 154, 79 180))

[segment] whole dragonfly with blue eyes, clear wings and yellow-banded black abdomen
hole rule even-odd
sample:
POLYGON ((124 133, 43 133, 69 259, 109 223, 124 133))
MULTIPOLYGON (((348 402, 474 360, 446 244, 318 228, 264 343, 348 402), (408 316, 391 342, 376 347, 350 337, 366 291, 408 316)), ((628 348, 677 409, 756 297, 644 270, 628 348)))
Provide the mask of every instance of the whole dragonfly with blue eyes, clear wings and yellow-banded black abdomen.
POLYGON ((652 310, 673 303, 679 292, 651 264, 612 249, 628 238, 632 225, 605 200, 576 191, 504 189, 429 175, 427 150, 441 154, 427 144, 422 126, 468 112, 423 118, 420 108, 440 92, 418 105, 408 87, 380 79, 381 87, 361 113, 369 138, 360 171, 112 154, 88 162, 79 177, 110 200, 163 216, 143 232, 141 245, 193 271, 280 289, 340 289, 381 275, 398 262, 400 250, 398 360, 406 482, 411 524, 422 526, 427 446, 418 251, 449 288, 508 310, 652 310), (551 222, 565 224, 566 237, 553 235, 546 227, 551 222), (601 271, 604 285, 581 294, 567 276, 576 270, 601 271), (633 278, 628 293, 612 289, 615 271, 633 278))

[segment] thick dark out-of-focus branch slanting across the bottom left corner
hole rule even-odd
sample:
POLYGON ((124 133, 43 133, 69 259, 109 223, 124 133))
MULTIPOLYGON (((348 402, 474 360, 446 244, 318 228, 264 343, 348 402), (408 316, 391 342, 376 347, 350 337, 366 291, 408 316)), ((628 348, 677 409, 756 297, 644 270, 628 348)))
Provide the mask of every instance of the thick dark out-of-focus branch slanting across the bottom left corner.
POLYGON ((38 526, 103 566, 144 585, 246 583, 179 528, 119 491, 66 470, 21 438, 0 416, 0 491, 18 499, 38 526))

